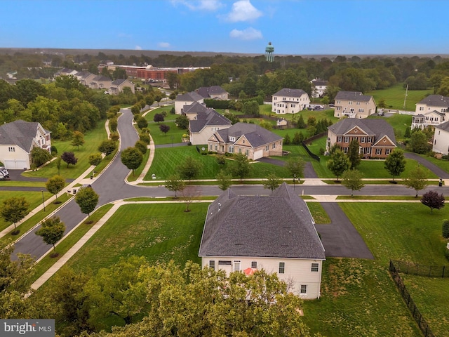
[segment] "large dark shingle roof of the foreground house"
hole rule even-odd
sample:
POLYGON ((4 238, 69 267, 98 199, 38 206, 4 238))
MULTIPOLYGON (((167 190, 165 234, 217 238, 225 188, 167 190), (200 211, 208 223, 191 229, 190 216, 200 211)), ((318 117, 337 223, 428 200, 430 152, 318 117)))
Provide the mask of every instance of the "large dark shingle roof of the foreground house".
POLYGON ((199 256, 326 259, 307 204, 286 183, 269 197, 223 192, 208 208, 199 256))

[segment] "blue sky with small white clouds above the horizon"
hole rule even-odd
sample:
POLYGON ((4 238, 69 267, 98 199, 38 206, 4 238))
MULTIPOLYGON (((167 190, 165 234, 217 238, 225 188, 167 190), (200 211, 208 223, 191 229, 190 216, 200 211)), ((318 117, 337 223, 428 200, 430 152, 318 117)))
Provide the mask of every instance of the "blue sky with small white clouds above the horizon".
POLYGON ((0 48, 449 54, 447 0, 0 0, 0 48))

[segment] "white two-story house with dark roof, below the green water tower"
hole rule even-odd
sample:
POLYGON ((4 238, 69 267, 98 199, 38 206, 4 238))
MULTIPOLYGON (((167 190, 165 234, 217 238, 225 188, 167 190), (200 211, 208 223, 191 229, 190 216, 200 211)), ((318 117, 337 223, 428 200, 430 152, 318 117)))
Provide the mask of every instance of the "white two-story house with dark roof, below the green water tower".
POLYGON ((309 94, 302 89, 282 88, 272 96, 272 112, 276 114, 296 114, 309 105, 309 94))

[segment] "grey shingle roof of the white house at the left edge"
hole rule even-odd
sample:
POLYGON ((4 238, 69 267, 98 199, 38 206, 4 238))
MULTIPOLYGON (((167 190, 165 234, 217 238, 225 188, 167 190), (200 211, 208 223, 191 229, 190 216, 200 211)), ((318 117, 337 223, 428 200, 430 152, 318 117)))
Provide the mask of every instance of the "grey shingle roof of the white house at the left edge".
POLYGON ((29 153, 37 128, 39 123, 36 121, 18 120, 3 124, 0 126, 0 145, 17 145, 29 153))

